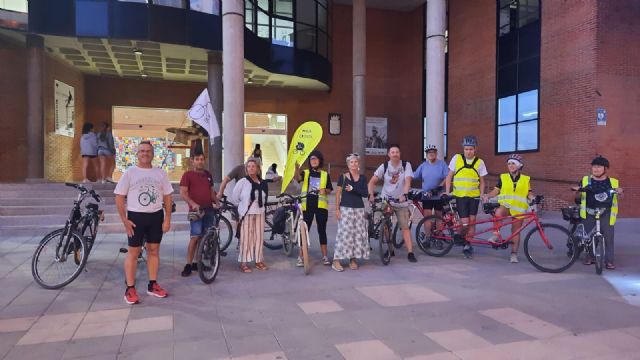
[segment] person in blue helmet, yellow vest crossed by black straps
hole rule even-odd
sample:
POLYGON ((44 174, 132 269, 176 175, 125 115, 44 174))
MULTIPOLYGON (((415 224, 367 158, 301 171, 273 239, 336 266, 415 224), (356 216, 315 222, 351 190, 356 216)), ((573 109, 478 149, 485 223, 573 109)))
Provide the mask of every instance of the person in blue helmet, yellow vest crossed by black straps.
POLYGON ((475 232, 473 223, 478 214, 479 198, 484 194, 484 177, 488 173, 484 161, 477 156, 478 139, 472 135, 465 136, 462 147, 463 153, 454 155, 449 163, 445 192, 456 199, 458 215, 463 225, 456 241, 464 243, 463 253, 470 258, 473 248, 464 240, 464 236, 473 236, 475 232))

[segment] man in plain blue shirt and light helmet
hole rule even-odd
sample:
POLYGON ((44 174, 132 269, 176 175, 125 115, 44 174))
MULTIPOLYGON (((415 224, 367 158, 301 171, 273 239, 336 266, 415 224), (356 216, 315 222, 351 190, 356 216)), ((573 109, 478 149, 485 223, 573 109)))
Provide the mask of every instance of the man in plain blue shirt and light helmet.
MULTIPOLYGON (((445 179, 449 174, 447 163, 438 159, 438 149, 435 145, 428 145, 424 149, 426 160, 418 166, 414 173, 415 179, 422 180, 422 208, 423 215, 442 216, 442 206, 444 205, 440 194, 444 190, 445 179)), ((431 222, 425 221, 425 234, 431 231, 431 222)))

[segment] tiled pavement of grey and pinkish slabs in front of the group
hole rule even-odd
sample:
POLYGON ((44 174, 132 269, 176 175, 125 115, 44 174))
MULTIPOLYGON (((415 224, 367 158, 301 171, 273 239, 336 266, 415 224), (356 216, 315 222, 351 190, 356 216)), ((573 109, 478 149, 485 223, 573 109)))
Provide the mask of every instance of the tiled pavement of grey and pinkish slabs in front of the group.
POLYGON ((638 228, 620 222, 618 269, 605 276, 581 264, 543 274, 491 249, 465 260, 458 248, 417 264, 399 251, 389 266, 374 250, 335 273, 316 245, 307 277, 270 250, 269 271, 242 274, 232 250, 209 286, 180 277, 187 234, 172 232, 160 269, 171 295, 144 295, 143 269, 136 306, 122 301, 123 236, 101 235, 87 271, 58 291, 31 278, 41 234, 0 236, 0 358, 640 359, 638 228))

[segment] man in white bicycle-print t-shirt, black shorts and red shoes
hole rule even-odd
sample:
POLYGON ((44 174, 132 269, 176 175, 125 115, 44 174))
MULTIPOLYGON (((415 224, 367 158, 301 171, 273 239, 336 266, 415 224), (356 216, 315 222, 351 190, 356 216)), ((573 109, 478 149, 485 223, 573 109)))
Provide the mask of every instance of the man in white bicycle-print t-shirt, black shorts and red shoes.
POLYGON ((157 283, 157 276, 160 241, 171 227, 173 193, 167 173, 151 165, 153 145, 149 141, 140 143, 137 156, 138 164, 125 171, 113 191, 116 194, 118 214, 129 237, 129 251, 124 260, 127 282, 124 300, 130 305, 140 302, 135 288, 136 267, 145 241, 149 276, 147 294, 167 297, 167 292, 157 283))

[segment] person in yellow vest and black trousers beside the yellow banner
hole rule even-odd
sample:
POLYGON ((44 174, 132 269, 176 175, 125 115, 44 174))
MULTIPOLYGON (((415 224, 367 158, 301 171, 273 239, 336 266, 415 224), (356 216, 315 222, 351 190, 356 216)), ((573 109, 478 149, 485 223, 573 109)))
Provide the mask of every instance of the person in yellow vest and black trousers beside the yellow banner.
MULTIPOLYGON (((311 229, 313 224, 313 218, 315 217, 318 223, 318 235, 320 237, 320 250, 322 251, 322 263, 324 265, 331 265, 329 256, 327 255, 327 221, 329 220, 329 199, 328 196, 333 191, 331 185, 331 177, 329 173, 322 170, 324 165, 324 157, 318 150, 313 150, 309 154, 308 169, 299 171, 296 166, 296 181, 302 184, 302 195, 307 194, 311 190, 315 190, 318 194, 308 194, 306 198, 302 199, 302 212, 304 216, 304 222, 307 223, 307 227, 311 229)), ((302 261, 302 249, 300 249, 300 256, 296 266, 304 266, 302 261)))

